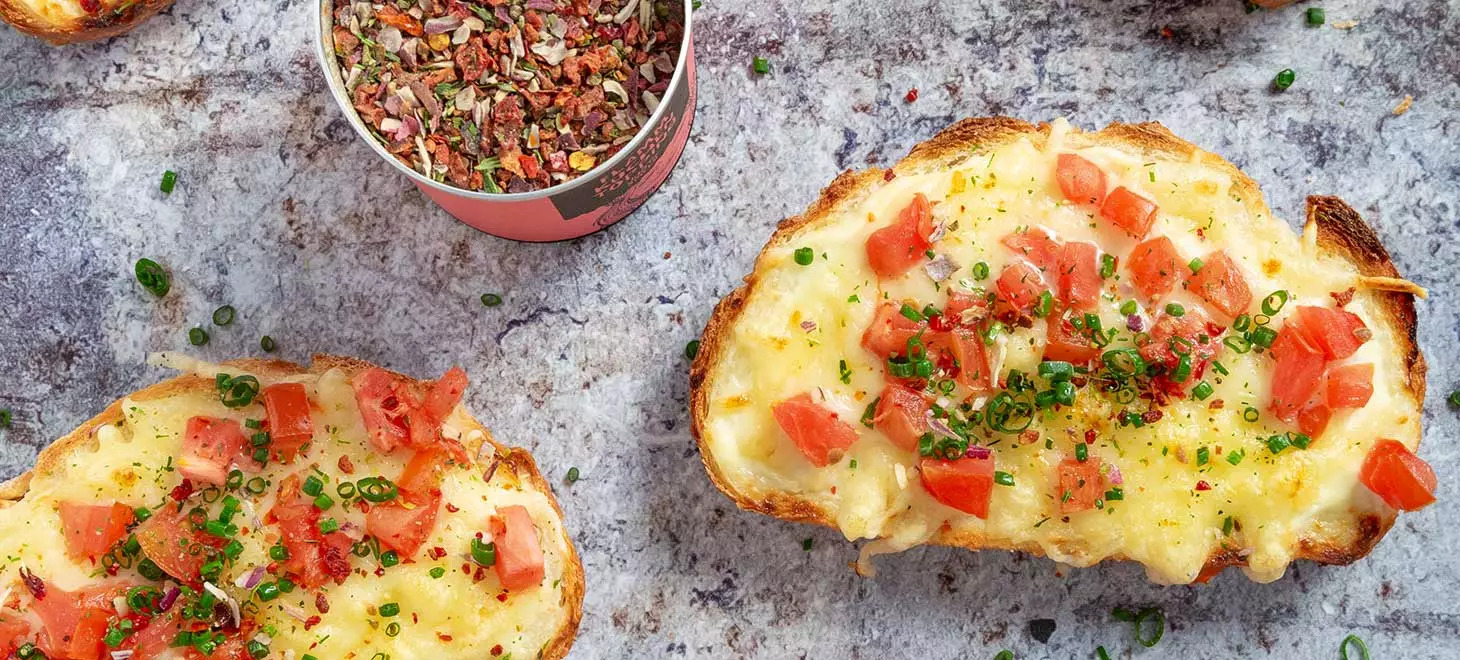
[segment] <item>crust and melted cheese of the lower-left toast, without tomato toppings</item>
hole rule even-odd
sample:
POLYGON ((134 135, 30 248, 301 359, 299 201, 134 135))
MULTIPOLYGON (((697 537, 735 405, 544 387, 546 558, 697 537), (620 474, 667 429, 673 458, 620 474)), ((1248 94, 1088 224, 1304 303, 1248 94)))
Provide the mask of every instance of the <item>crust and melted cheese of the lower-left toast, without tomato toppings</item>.
MULTIPOLYGON (((0 530, 3 530, 0 548, 4 548, 7 556, 19 555, 19 561, 0 564, 0 593, 18 596, 23 591, 16 577, 20 568, 28 568, 47 583, 69 591, 85 587, 92 580, 88 577, 91 568, 74 565, 76 562, 63 552, 64 545, 58 543, 61 533, 54 518, 55 501, 115 499, 128 507, 143 502, 153 505, 153 501, 166 496, 180 477, 172 472, 158 470, 159 476, 153 482, 149 477, 139 477, 150 472, 131 466, 147 464, 153 458, 161 463, 161 456, 171 457, 169 451, 177 451, 181 437, 178 421, 193 415, 228 419, 263 416, 258 404, 253 409, 223 407, 219 403, 216 374, 254 375, 264 387, 274 383, 305 384, 315 404, 312 410, 315 447, 283 472, 334 476, 336 479, 327 480, 324 491, 327 495, 336 495, 334 483, 342 479, 353 480, 374 475, 397 479, 404 460, 410 456, 409 451, 396 451, 390 456, 374 453, 362 435, 364 426, 352 425, 359 413, 353 397, 347 396, 350 383, 361 372, 374 369, 368 362, 330 355, 317 355, 308 368, 270 359, 238 359, 216 365, 175 355, 164 355, 162 362, 185 372, 112 403, 76 431, 45 447, 32 470, 0 483, 0 530), (328 400, 323 399, 321 393, 326 391, 330 394, 328 400), (149 444, 142 435, 136 435, 143 429, 158 431, 158 442, 149 444), (346 463, 350 464, 349 469, 339 466, 346 463), (15 539, 22 536, 19 533, 22 529, 26 539, 20 542, 23 550, 18 550, 13 545, 15 539), (6 540, 7 537, 10 540, 6 540)), ((426 385, 423 381, 394 375, 407 383, 407 387, 426 385)), ((396 651, 391 656, 429 653, 432 644, 442 647, 439 653, 453 656, 492 657, 493 644, 499 644, 499 650, 505 648, 499 653, 517 651, 526 657, 566 656, 583 616, 584 577, 552 489, 526 450, 499 444, 463 406, 456 406, 445 418, 442 437, 460 440, 476 466, 469 469, 454 466, 445 470, 445 482, 441 485, 445 504, 439 508, 425 545, 412 559, 403 559, 393 568, 374 568, 380 564, 371 556, 349 558, 353 574, 345 584, 327 584, 323 588, 321 593, 333 600, 333 607, 328 607, 328 612, 318 612, 323 621, 307 623, 312 628, 308 632, 295 631, 299 635, 288 632, 285 628, 293 621, 266 610, 269 622, 279 626, 279 634, 273 638, 274 651, 280 651, 280 645, 288 645, 295 650, 295 657, 311 648, 318 657, 346 657, 350 653, 359 656, 361 651, 368 656, 380 650, 393 650, 396 642, 409 641, 409 647, 399 647, 404 650, 404 656, 396 651), (542 584, 511 593, 498 586, 492 569, 474 568, 467 553, 472 534, 491 533, 486 523, 491 513, 510 504, 520 504, 531 513, 546 556, 546 577, 542 584), (442 550, 439 558, 434 555, 432 548, 442 550), (441 575, 428 574, 432 567, 442 568, 441 575), (466 575, 463 569, 467 571, 466 575), (400 619, 394 619, 402 625, 399 637, 385 637, 381 632, 391 619, 377 613, 377 606, 387 600, 400 603, 400 619), (539 612, 521 612, 539 606, 542 607, 539 612), (499 640, 470 637, 473 631, 493 625, 512 625, 512 629, 499 640), (331 631, 333 642, 328 640, 315 642, 331 631), (293 645, 305 635, 308 640, 293 645), (340 641, 346 645, 340 647, 340 641), (415 651, 410 651, 412 648, 415 651)), ((282 476, 273 472, 264 475, 273 477, 267 492, 256 498, 257 510, 245 510, 256 520, 267 520, 264 515, 282 476)), ((359 502, 352 502, 347 508, 355 508, 353 504, 359 502)), ((253 504, 245 502, 245 507, 253 504)), ((349 513, 336 505, 327 510, 326 515, 347 520, 349 513)), ((247 524, 245 521, 244 526, 247 524)), ((254 559, 258 559, 257 552, 250 545, 238 565, 253 564, 254 559)), ((235 591, 234 575, 225 577, 226 580, 219 580, 223 583, 219 586, 239 602, 245 600, 248 590, 235 591)), ((13 609, 6 610, 6 606, 13 607, 16 603, 13 599, 15 596, 0 597, 0 623, 7 616, 15 616, 13 609)), ((283 600, 285 597, 279 599, 280 603, 283 600)), ((317 610, 311 606, 314 597, 304 600, 304 613, 315 615, 317 610)), ((3 637, 0 634, 0 645, 6 644, 3 637)), ((3 651, 7 648, 0 648, 0 653, 3 651)))

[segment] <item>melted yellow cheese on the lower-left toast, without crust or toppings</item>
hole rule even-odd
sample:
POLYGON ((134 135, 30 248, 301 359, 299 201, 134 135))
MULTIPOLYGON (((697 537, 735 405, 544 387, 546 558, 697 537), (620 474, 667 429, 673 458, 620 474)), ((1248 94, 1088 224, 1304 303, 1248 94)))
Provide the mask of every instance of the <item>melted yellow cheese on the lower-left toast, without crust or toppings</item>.
MULTIPOLYGON (((213 371, 206 364, 191 365, 193 371, 207 375, 213 371)), ((239 374, 237 369, 226 371, 239 374)), ((312 412, 312 448, 291 466, 276 463, 264 470, 260 476, 267 477, 270 486, 263 495, 250 498, 235 494, 244 499, 241 526, 250 526, 248 518, 253 515, 264 517, 286 475, 301 473, 302 477, 323 473, 328 477, 326 492, 333 495, 342 476, 340 457, 349 457, 353 463, 353 473, 346 477, 349 480, 365 476, 396 479, 409 458, 406 451, 383 456, 369 445, 345 372, 331 369, 318 377, 285 380, 302 381, 317 406, 312 412), (311 466, 318 472, 311 470, 311 466)), ((64 590, 93 584, 95 578, 91 575, 95 567, 77 564, 66 553, 57 502, 120 501, 128 507, 156 507, 181 482, 178 473, 162 466, 178 454, 188 418, 207 415, 244 422, 264 416, 258 404, 228 409, 216 394, 196 391, 150 400, 127 399, 123 402, 123 423, 96 431, 98 447, 93 451, 73 453, 55 470, 34 475, 29 494, 22 501, 0 508, 0 584, 16 584, 22 565, 64 590)), ((444 432, 451 435, 454 429, 463 428, 473 429, 460 440, 474 453, 485 435, 474 431, 474 422, 458 407, 447 421, 444 432)), ((501 645, 502 654, 537 657, 569 616, 572 603, 565 603, 561 580, 571 569, 572 552, 549 495, 527 483, 526 475, 518 479, 505 464, 486 482, 482 467, 447 470, 441 485, 445 504, 415 561, 403 561, 375 575, 380 564, 374 558, 352 556, 350 567, 355 571, 349 578, 343 584, 330 583, 321 588, 330 603, 327 613, 315 609, 314 593, 304 588, 269 603, 253 599, 261 605, 261 613, 256 618, 258 623, 277 629, 272 644, 274 654, 270 657, 291 657, 291 653, 292 657, 310 653, 320 659, 371 657, 375 653, 396 659, 489 657, 496 645, 501 645), (485 571, 486 577, 476 583, 463 571, 463 565, 470 562, 470 539, 486 533, 488 518, 498 507, 507 505, 526 507, 537 527, 546 574, 539 587, 507 593, 495 571, 485 571), (434 546, 444 548, 447 555, 431 559, 426 550, 434 546), (437 567, 445 569, 441 578, 429 575, 437 567), (387 619, 374 613, 375 607, 391 602, 400 605, 400 615, 387 619), (286 607, 307 616, 320 615, 321 621, 305 631, 302 622, 288 613, 286 607), (399 635, 385 634, 390 622, 400 623, 399 635)), ((339 520, 342 526, 365 526, 365 515, 353 507, 334 505, 326 515, 339 520)), ((277 534, 273 526, 266 526, 261 534, 239 534, 244 552, 232 568, 225 569, 219 587, 239 603, 248 602, 250 593, 235 587, 234 580, 257 565, 269 564, 267 550, 277 534)), ((133 571, 123 571, 120 577, 140 580, 133 571)))

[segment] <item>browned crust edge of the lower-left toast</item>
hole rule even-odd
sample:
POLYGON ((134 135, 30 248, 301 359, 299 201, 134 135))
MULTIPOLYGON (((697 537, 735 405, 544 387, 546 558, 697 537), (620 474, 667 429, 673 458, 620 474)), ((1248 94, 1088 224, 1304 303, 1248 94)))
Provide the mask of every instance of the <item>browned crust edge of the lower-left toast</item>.
MULTIPOLYGON (((256 358, 229 361, 223 362, 223 365, 237 367, 251 374, 260 374, 260 375, 267 374, 272 377, 286 377, 305 372, 323 374, 328 369, 340 369, 349 374, 350 377, 355 377, 355 374, 359 374, 361 371, 375 367, 362 359, 342 358, 336 355, 315 355, 310 368, 304 368, 293 362, 285 362, 277 359, 256 359, 256 358)), ((403 374, 396 374, 396 375, 400 375, 402 378, 410 378, 403 374)), ((196 390, 213 391, 215 388, 216 384, 212 380, 193 374, 182 374, 175 378, 134 391, 127 397, 133 400, 152 400, 152 399, 174 396, 184 391, 196 391, 196 390)), ((485 426, 482 426, 480 422, 476 421, 476 418, 469 416, 469 419, 472 426, 467 431, 470 429, 482 431, 486 441, 491 442, 492 447, 496 450, 496 456, 501 460, 498 469, 501 469, 502 464, 508 466, 512 470, 512 473, 517 475, 518 479, 526 480, 527 483, 531 485, 531 488, 546 495, 548 501, 552 502, 553 511, 556 511, 558 514, 558 520, 564 521, 562 507, 558 504, 558 498, 553 495, 552 488, 549 488, 548 480, 543 479, 542 472, 537 470, 537 463, 533 461, 531 454, 529 454, 527 450, 523 448, 502 445, 501 442, 496 441, 496 438, 492 437, 491 431, 488 431, 485 426)), ((70 456, 73 451, 80 451, 93 447, 96 442, 95 431, 98 428, 108 423, 120 423, 121 421, 123 421, 121 400, 117 400, 112 402, 111 406, 107 406, 107 409, 102 410, 95 418, 88 419, 85 423, 77 426, 70 434, 61 437, 55 442, 51 442, 48 447, 42 448, 39 456, 36 456, 34 469, 20 476, 16 476, 15 479, 0 483, 0 508, 4 508, 7 504, 19 501, 25 496, 26 491, 29 489, 31 476, 34 473, 50 472, 58 467, 66 460, 66 457, 70 456)), ((559 628, 556 634, 548 641, 548 644, 543 645, 540 657, 545 660, 559 660, 568 656, 568 650, 572 648, 572 642, 578 635, 578 625, 583 621, 583 597, 585 588, 583 562, 578 559, 578 550, 574 548, 572 537, 568 534, 566 527, 564 524, 561 524, 561 527, 565 542, 564 545, 568 548, 568 562, 566 562, 568 565, 564 569, 562 584, 559 587, 562 593, 562 603, 568 607, 568 619, 564 622, 562 628, 559 628)))

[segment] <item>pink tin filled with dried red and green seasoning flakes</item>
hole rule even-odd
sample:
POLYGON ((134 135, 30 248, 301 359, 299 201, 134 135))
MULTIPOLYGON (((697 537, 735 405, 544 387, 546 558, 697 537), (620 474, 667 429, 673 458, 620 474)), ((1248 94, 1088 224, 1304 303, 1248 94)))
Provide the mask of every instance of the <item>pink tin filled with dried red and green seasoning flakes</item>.
POLYGON ((620 220, 694 120, 688 1, 320 0, 318 54, 371 149, 461 222, 518 241, 620 220))

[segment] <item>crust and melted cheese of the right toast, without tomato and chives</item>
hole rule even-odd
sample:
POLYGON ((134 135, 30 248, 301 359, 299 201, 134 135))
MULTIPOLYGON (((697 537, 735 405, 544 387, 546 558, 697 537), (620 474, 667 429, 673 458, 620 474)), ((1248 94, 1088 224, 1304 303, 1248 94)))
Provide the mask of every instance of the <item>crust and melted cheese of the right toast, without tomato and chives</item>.
MULTIPOLYGON (((1095 215, 1088 216, 1089 228, 1095 228, 1095 215)), ((1075 232, 1086 231, 1080 222, 1085 220, 1066 226, 1075 232)), ((943 242, 948 241, 943 238, 943 242)), ((1190 251, 1186 257, 1203 254, 1204 250, 1190 251)), ((1126 256, 1120 258, 1124 269, 1126 256)), ((996 267, 988 282, 978 283, 993 286, 997 276, 996 267)), ((926 280, 931 276, 924 277, 923 269, 914 269, 905 277, 926 280)), ((952 286, 952 279, 946 286, 952 286)), ((927 293, 942 289, 927 282, 918 286, 899 282, 889 288, 896 289, 896 295, 891 296, 894 304, 908 291, 927 293)), ((1254 288, 1253 308, 1267 291, 1254 288)), ((1378 432, 1374 429, 1383 429, 1386 437, 1397 438, 1410 450, 1419 442, 1425 362, 1415 340, 1415 295, 1424 295, 1424 289, 1399 277, 1374 231, 1343 202, 1310 197, 1307 223, 1302 237, 1296 238, 1272 216, 1257 184, 1237 166, 1175 137, 1159 124, 1111 124, 1099 131, 1080 133, 1063 121, 1034 126, 1010 118, 964 120, 914 147, 891 169, 844 172, 804 213, 780 223, 746 283, 726 296, 707 323, 691 372, 694 434, 711 480, 740 508, 838 527, 850 540, 876 539, 863 548, 858 571, 870 569, 866 559, 873 553, 933 543, 1023 550, 1077 567, 1104 559, 1140 561, 1149 577, 1159 583, 1204 581, 1226 567, 1242 567, 1251 578, 1270 581, 1283 574, 1291 559, 1323 564, 1359 559, 1393 526, 1396 511, 1364 489, 1356 473, 1365 451, 1374 444, 1374 434, 1378 432), (1242 426, 1245 435, 1241 438, 1237 435, 1242 434, 1237 432, 1234 438, 1212 437, 1216 426, 1225 431, 1242 423, 1232 418, 1245 415, 1240 410, 1241 404, 1231 400, 1231 393, 1241 387, 1237 383, 1218 387, 1218 396, 1228 394, 1226 410, 1210 412, 1209 419, 1190 429, 1153 425, 1153 431, 1134 432, 1107 419, 1114 416, 1108 406, 1092 410, 1072 407, 1076 416, 1089 415, 1091 432, 1099 429, 1098 444, 1089 445, 1091 454, 1098 451, 1105 457, 1120 457, 1113 460, 1124 470, 1120 511, 1111 511, 1117 508, 1113 502, 1104 514, 1061 514, 1061 505, 1048 494, 993 486, 994 511, 984 521, 930 499, 918 486, 918 451, 899 453, 882 432, 870 431, 870 423, 864 423, 866 428, 856 423, 863 406, 867 406, 867 415, 872 413, 869 402, 883 387, 885 365, 869 356, 858 339, 876 307, 869 301, 888 295, 869 270, 863 242, 870 231, 885 226, 888 218, 908 203, 911 191, 926 191, 933 199, 939 231, 946 225, 948 237, 955 241, 952 247, 940 244, 937 250, 950 254, 961 267, 958 275, 967 277, 971 263, 990 258, 999 245, 990 245, 988 235, 983 237, 983 244, 974 239, 964 244, 959 239, 967 237, 958 237, 959 232, 993 226, 997 229, 986 234, 997 242, 1000 234, 1041 222, 1037 215, 1021 212, 1045 209, 1048 213, 1069 213, 1069 202, 1019 206, 1023 197, 1058 197, 1053 153, 1066 150, 1089 155, 1108 165, 1118 177, 1117 183, 1155 197, 1162 207, 1158 223, 1194 228, 1193 235, 1181 238, 1183 245, 1213 250, 1222 248, 1225 241, 1228 250, 1242 257, 1238 261, 1245 264, 1250 277, 1261 282, 1288 277, 1302 304, 1333 305, 1326 292, 1342 296, 1352 288, 1349 310, 1368 323, 1374 337, 1365 345, 1367 352, 1359 353, 1377 362, 1377 391, 1375 402, 1368 404, 1371 407, 1340 413, 1329 435, 1314 440, 1313 448, 1278 457, 1267 456, 1261 435, 1253 434, 1254 428, 1242 426), (1038 162, 1021 162, 1031 159, 1038 162), (977 206, 988 199, 999 203, 988 203, 987 209, 977 206), (1007 215, 1003 215, 1004 204, 1009 204, 1007 215), (955 207, 958 210, 952 210, 955 207), (983 210, 987 213, 975 218, 983 210), (1218 212, 1219 218, 1207 218, 1209 213, 1218 216, 1218 212), (1200 218, 1191 218, 1196 215, 1200 218), (955 229, 958 222, 962 222, 961 229, 955 229), (1238 245, 1248 241, 1267 247, 1238 245), (812 256, 810 264, 793 260, 797 248, 806 253, 800 257, 812 256), (1266 258, 1259 260, 1259 254, 1266 258), (1283 258, 1291 261, 1286 270, 1283 258), (1301 279, 1321 280, 1321 285, 1310 286, 1301 279), (1299 289, 1311 295, 1301 298, 1299 289), (842 359, 840 365, 838 358, 842 359), (785 426, 778 428, 769 410, 772 403, 807 390, 858 434, 845 454, 831 454, 828 467, 815 467, 797 454, 797 447, 783 431, 785 426), (1386 397, 1381 409, 1372 407, 1380 403, 1381 394, 1386 397), (1202 423, 1209 426, 1207 432, 1199 432, 1202 423), (1124 448, 1110 447, 1107 434, 1126 442, 1124 448), (1345 450, 1340 440, 1350 438, 1355 447, 1345 450), (1130 447, 1134 440, 1146 447, 1130 447), (1223 440, 1228 454, 1222 454, 1223 440), (1234 444, 1248 457, 1240 467, 1219 460, 1240 458, 1231 457, 1234 444), (1206 469, 1215 470, 1213 476, 1193 469, 1196 445, 1202 445, 1203 458, 1209 457, 1206 469), (1171 489, 1142 483, 1140 479, 1156 480, 1153 469, 1143 470, 1142 463, 1156 464, 1168 453, 1180 456, 1180 463, 1171 466, 1174 475, 1190 480, 1171 489), (848 460, 840 460, 844 457, 848 460), (888 463, 892 466, 888 467, 888 463), (1324 477, 1315 466, 1327 466, 1333 475, 1324 477), (1229 501, 1229 507, 1221 502, 1186 504, 1184 496, 1210 498, 1190 491, 1191 482, 1199 477, 1203 479, 1194 491, 1213 488, 1213 494, 1235 502, 1229 501), (1317 501, 1320 482, 1321 496, 1327 498, 1323 502, 1317 501), (1292 496, 1278 496, 1275 501, 1279 504, 1269 507, 1260 491, 1278 491, 1279 486, 1291 488, 1292 496), (1146 489, 1155 501, 1142 501, 1142 491, 1146 489), (1000 520, 1000 507, 1013 510, 1016 520, 1000 520), (1148 515, 1153 508, 1169 510, 1169 517, 1148 515), (1261 511, 1267 508, 1269 513, 1261 511), (1250 520, 1237 520, 1234 532, 1232 518, 1238 513, 1250 520), (1197 524, 1202 529, 1188 529, 1191 526, 1177 520, 1184 515, 1202 517, 1197 524), (1121 517, 1129 518, 1123 521, 1121 517), (1259 520, 1283 530, 1260 532, 1254 524, 1244 524, 1259 520)), ((991 299, 993 293, 988 296, 991 299)), ((926 298, 918 302, 923 301, 926 298)), ((1231 318, 1226 321, 1231 323, 1231 318)), ((1042 321, 1035 321, 1035 326, 1042 326, 1042 321)), ((1278 327, 1276 317, 1273 327, 1278 327)), ((1015 348, 1015 343, 1009 339, 1007 348, 1015 348)), ((1007 355, 1013 359, 1012 350, 1007 355)), ((1229 359, 1226 355, 1219 358, 1229 359)), ((1260 365, 1256 361, 1263 358, 1256 353, 1232 356, 1234 377, 1228 381, 1241 375, 1238 368, 1247 368, 1247 359, 1260 365)), ((1034 362, 1038 362, 1037 356, 1034 362)), ((1025 362, 1025 367, 1032 364, 1025 362)), ((1004 371, 994 368, 993 374, 1002 377, 1004 371)), ((1034 372, 1032 368, 1025 371, 1034 372)), ((1245 396, 1266 418, 1266 396, 1245 396)), ((1191 419, 1194 409, 1180 410, 1191 419)), ((1168 410, 1168 422, 1162 423, 1177 423, 1174 412, 1168 410)), ((1267 423, 1266 419, 1263 423, 1267 423)), ((1075 437, 1072 431, 1070 435, 1075 437)), ((1023 467, 1022 472, 1010 470, 1021 486, 1026 482, 1042 483, 1053 479, 1048 473, 1054 470, 1053 461, 1061 454, 1069 458, 1070 451, 1064 437, 1047 438, 1044 442, 1061 444, 1053 457, 1045 456, 1051 453, 1050 444, 1041 451, 1040 444, 1010 447, 1006 441, 991 451, 1000 456, 1000 469, 1004 469, 1000 451, 1010 453, 1015 457, 1010 461, 1023 467)))

